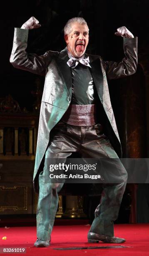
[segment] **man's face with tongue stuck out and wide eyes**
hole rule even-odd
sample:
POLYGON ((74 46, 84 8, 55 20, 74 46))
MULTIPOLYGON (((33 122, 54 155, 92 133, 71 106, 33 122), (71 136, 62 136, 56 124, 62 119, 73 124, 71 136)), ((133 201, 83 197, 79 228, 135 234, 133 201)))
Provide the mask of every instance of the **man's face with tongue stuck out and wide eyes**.
POLYGON ((86 51, 89 42, 89 32, 87 25, 79 23, 72 24, 72 31, 65 35, 67 49, 75 58, 80 58, 86 51))

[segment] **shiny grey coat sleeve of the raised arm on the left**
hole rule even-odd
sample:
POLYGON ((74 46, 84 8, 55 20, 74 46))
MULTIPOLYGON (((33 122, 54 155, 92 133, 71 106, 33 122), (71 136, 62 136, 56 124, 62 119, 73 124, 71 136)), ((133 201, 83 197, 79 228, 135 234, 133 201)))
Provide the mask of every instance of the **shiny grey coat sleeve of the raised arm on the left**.
POLYGON ((50 51, 40 56, 37 54, 27 54, 27 38, 27 29, 15 28, 10 63, 15 68, 35 74, 43 74, 47 65, 50 63, 50 51))

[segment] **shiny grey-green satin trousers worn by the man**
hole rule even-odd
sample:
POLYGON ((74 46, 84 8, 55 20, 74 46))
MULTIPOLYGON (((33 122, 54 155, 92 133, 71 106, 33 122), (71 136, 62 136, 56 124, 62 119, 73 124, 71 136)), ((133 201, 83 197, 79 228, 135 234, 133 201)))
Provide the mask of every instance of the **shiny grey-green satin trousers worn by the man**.
MULTIPOLYGON (((116 159, 117 171, 108 175, 117 180, 114 184, 103 184, 102 196, 95 210, 95 218, 90 231, 106 236, 114 236, 114 220, 117 219, 122 196, 127 183, 127 172, 119 160, 109 139, 104 135, 102 125, 75 126, 60 121, 51 131, 51 140, 45 153, 44 169, 39 175, 39 198, 37 205, 37 237, 50 240, 58 207, 58 192, 63 184, 45 182, 49 170, 49 159, 66 159, 72 152, 82 157, 96 159, 116 159)), ((113 168, 113 166, 111 166, 113 168)), ((76 184, 77 186, 77 184, 76 184)))

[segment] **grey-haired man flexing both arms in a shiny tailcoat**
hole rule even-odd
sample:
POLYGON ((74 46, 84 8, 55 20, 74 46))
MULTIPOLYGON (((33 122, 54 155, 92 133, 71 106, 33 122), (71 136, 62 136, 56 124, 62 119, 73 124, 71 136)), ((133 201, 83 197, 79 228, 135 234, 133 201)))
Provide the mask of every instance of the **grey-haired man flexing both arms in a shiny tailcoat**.
MULTIPOLYGON (((117 182, 104 184, 88 242, 122 243, 125 239, 114 237, 113 221, 117 219, 127 172, 118 158, 121 145, 106 76, 116 79, 136 72, 137 38, 127 28, 118 28, 115 34, 124 37, 125 57, 119 63, 103 61, 100 56, 85 53, 89 41, 87 23, 83 18, 72 18, 64 28, 67 47, 63 51, 47 51, 42 56, 27 54, 28 29, 38 27, 38 20, 31 17, 21 28, 15 28, 10 57, 16 68, 35 74, 46 72, 33 177, 35 190, 40 188, 35 246, 50 245, 57 192, 63 185, 45 182, 49 159, 66 159, 76 151, 86 160, 117 159, 117 172, 108 172, 109 179, 113 175, 117 182), (41 162, 44 169, 40 169, 41 162)), ((113 163, 109 163, 109 170, 113 163)))

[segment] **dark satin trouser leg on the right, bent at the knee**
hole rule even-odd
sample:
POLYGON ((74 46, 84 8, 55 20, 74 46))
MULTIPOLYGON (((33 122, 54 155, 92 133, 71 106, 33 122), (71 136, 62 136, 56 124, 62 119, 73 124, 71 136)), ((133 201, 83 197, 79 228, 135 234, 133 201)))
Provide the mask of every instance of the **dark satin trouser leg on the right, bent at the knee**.
MULTIPOLYGON (((114 180, 113 184, 104 184, 100 204, 95 210, 95 218, 91 225, 90 232, 114 236, 114 220, 117 219, 122 196, 127 183, 127 172, 119 160, 116 152, 111 146, 108 138, 100 131, 100 127, 88 131, 90 142, 84 139, 82 154, 87 158, 105 159, 106 168, 104 177, 106 180, 114 180), (106 158, 108 161, 106 161, 106 158), (114 170, 114 172, 112 171, 114 170)), ((83 131, 82 131, 83 133, 83 131)), ((87 137, 87 131, 85 131, 87 137)), ((102 161, 104 165, 104 161, 102 161)))

